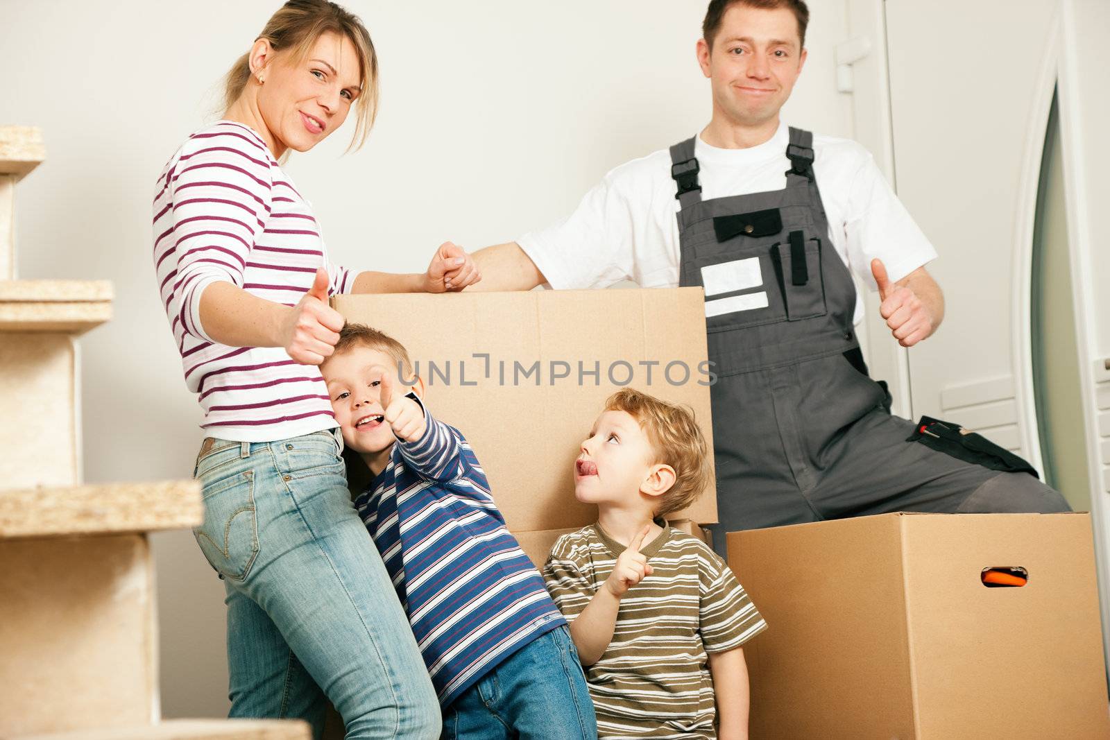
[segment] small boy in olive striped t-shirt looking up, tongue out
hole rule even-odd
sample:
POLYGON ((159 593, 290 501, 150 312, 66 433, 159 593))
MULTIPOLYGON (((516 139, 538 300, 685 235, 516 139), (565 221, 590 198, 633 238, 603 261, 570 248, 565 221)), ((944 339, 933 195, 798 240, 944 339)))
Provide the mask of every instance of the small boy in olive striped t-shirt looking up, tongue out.
POLYGON ((663 519, 705 487, 706 455, 688 410, 624 388, 575 460, 597 523, 555 543, 544 578, 601 738, 747 738, 740 646, 767 624, 724 560, 663 519))

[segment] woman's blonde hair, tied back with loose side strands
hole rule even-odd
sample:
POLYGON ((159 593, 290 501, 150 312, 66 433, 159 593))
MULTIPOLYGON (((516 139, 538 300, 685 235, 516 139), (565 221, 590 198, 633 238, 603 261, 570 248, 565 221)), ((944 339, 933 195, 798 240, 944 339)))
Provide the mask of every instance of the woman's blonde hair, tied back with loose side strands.
MULTIPOLYGON (((266 21, 259 39, 269 41, 279 54, 290 53, 293 61, 300 63, 325 33, 350 39, 359 57, 362 92, 354 101, 355 129, 347 148, 351 151, 366 143, 377 118, 377 53, 359 17, 327 0, 289 0, 266 21)), ((239 100, 251 79, 250 57, 248 52, 235 60, 224 78, 224 109, 239 100)))

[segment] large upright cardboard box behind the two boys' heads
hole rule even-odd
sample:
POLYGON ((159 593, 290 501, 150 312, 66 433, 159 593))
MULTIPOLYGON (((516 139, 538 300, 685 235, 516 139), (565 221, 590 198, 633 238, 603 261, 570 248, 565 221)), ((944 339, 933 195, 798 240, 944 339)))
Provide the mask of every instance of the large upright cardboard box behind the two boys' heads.
MULTIPOLYGON (((574 458, 622 386, 689 405, 713 448, 702 288, 342 295, 333 305, 405 345, 428 409, 474 447, 512 531, 596 520, 574 498, 574 458)), ((712 478, 675 518, 717 520, 712 478)))

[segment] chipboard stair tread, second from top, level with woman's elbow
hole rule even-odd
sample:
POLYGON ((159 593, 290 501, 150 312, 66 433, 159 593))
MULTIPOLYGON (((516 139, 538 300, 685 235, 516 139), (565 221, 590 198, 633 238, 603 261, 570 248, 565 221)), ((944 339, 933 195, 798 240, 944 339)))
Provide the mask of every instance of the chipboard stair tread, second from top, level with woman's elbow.
POLYGON ((111 317, 108 281, 0 281, 0 332, 81 334, 111 317))

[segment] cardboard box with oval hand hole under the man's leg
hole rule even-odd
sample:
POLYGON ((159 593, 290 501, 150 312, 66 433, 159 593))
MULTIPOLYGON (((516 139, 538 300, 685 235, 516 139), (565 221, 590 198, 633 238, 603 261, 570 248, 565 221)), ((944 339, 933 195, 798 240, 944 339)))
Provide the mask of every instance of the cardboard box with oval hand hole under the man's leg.
POLYGON ((728 535, 767 619, 751 738, 1110 738, 1086 514, 888 514, 728 535), (983 569, 1019 567, 1022 587, 983 569))

